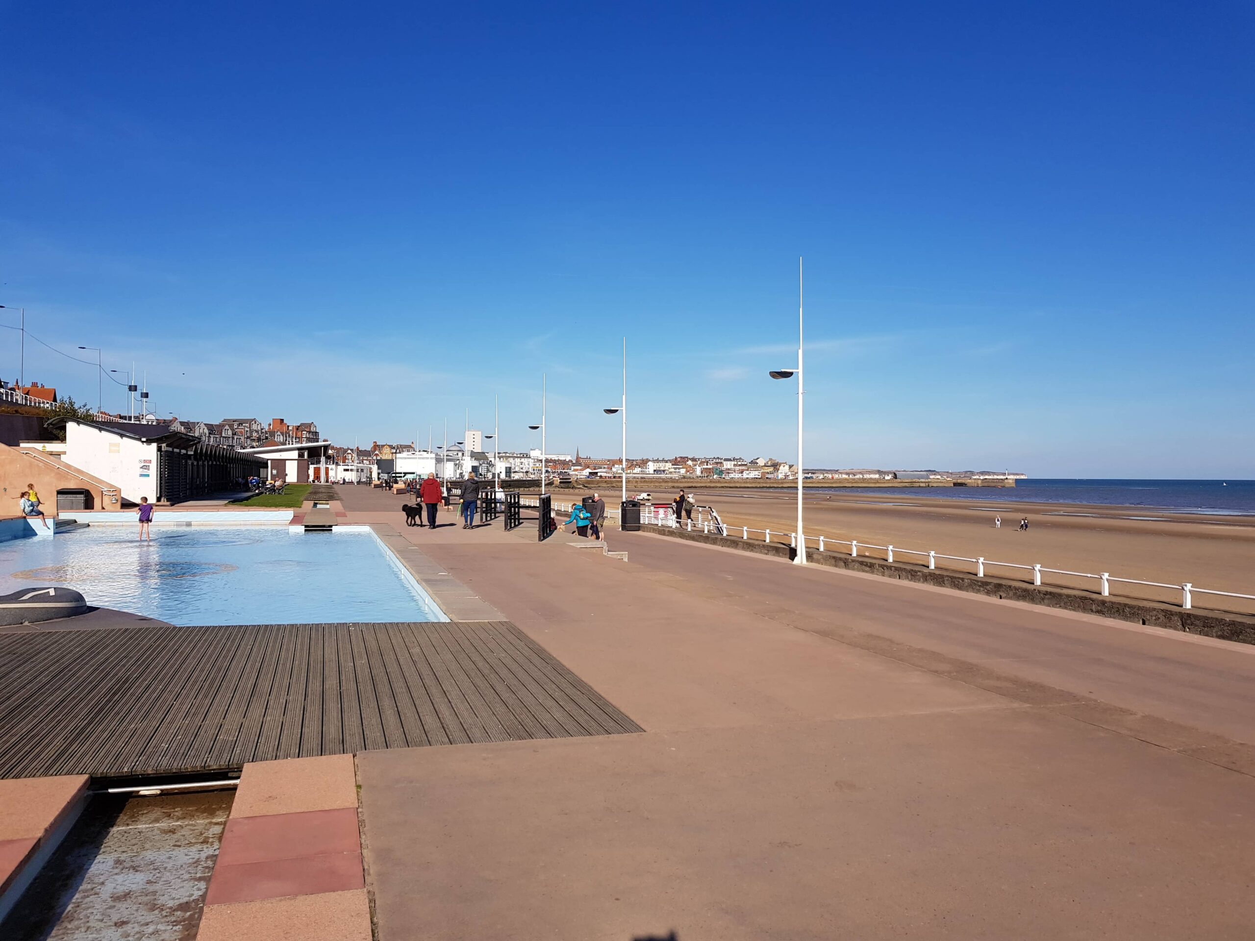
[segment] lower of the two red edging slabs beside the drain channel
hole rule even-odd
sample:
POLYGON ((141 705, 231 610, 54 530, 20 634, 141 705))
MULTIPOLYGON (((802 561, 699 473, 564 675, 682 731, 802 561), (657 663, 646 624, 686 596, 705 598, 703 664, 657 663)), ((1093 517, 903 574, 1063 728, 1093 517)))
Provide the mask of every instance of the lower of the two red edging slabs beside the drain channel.
POLYGON ((364 886, 361 853, 321 853, 264 862, 228 864, 218 861, 205 896, 207 906, 255 902, 285 896, 311 896, 364 886))

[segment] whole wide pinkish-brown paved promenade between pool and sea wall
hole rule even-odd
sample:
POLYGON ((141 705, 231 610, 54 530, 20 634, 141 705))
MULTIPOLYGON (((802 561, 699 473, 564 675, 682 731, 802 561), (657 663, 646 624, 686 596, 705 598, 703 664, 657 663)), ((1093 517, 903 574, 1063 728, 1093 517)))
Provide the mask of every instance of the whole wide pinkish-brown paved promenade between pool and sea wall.
POLYGON ((645 729, 360 753, 383 941, 1249 937, 1252 649, 340 493, 645 729))

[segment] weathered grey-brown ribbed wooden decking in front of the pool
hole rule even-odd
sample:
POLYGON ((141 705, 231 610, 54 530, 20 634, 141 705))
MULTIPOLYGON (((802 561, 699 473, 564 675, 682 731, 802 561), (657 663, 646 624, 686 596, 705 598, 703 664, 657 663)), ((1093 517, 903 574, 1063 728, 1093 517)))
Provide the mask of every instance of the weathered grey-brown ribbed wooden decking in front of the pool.
POLYGON ((625 731, 508 621, 0 635, 0 778, 625 731))

